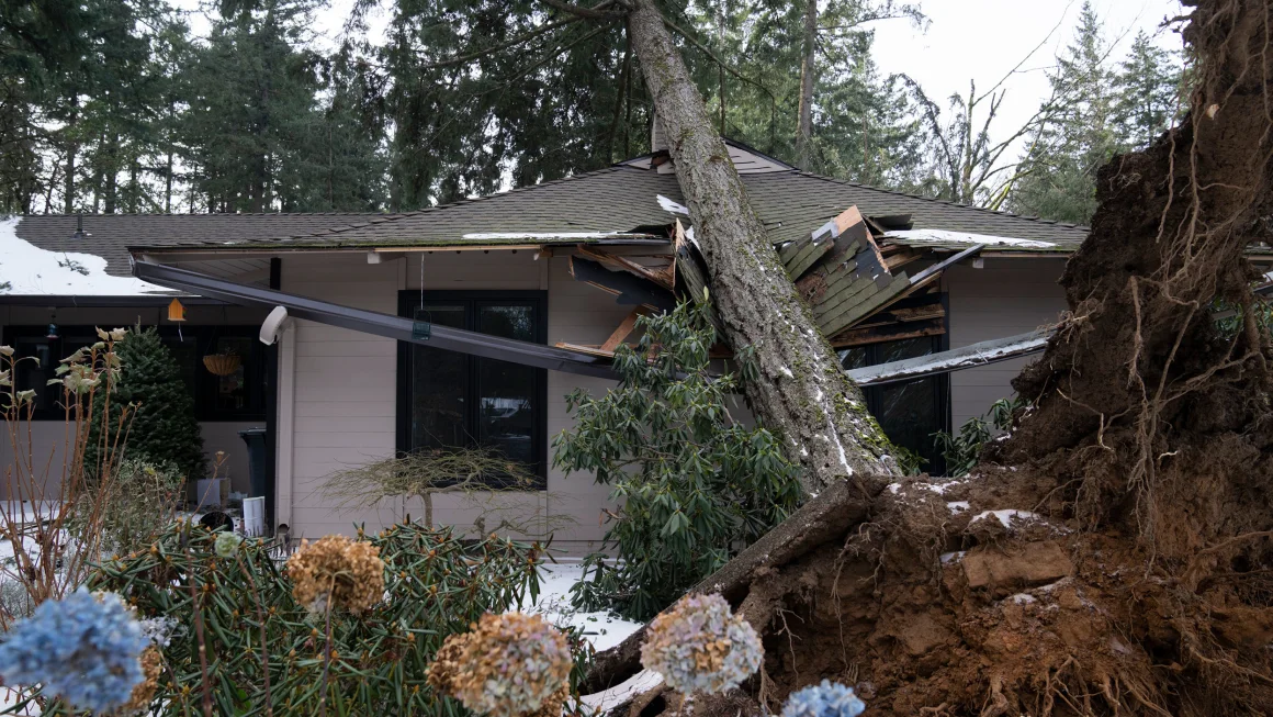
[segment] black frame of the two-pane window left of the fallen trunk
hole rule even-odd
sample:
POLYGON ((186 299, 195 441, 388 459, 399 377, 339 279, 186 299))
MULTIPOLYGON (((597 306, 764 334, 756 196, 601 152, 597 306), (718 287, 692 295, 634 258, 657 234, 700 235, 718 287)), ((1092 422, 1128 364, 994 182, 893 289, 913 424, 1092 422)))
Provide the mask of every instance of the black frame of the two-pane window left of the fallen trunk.
MULTIPOLYGON (((516 302, 526 303, 531 306, 535 317, 535 341, 537 344, 547 344, 549 334, 549 293, 541 289, 437 289, 425 290, 419 289, 402 289, 398 292, 398 316, 412 318, 415 316, 415 309, 420 306, 421 299, 425 303, 439 303, 439 302, 454 302, 465 304, 465 329, 470 331, 476 331, 476 308, 479 306, 499 304, 500 302, 516 302)), ((406 455, 415 450, 411 446, 411 397, 415 390, 414 377, 411 371, 411 353, 416 344, 409 341, 397 343, 397 410, 396 410, 396 425, 397 437, 396 446, 398 455, 406 455)), ((480 362, 484 360, 498 360, 486 359, 481 357, 465 355, 468 360, 468 385, 466 387, 466 406, 476 406, 479 401, 479 374, 477 367, 480 362)), ((535 416, 533 436, 531 438, 535 450, 535 461, 532 472, 538 478, 537 484, 532 490, 545 490, 547 488, 547 469, 549 469, 549 381, 547 369, 536 368, 533 369, 535 376, 535 400, 538 404, 537 415, 535 416)), ((468 411, 466 416, 466 430, 470 437, 479 436, 479 414, 477 411, 468 411)))

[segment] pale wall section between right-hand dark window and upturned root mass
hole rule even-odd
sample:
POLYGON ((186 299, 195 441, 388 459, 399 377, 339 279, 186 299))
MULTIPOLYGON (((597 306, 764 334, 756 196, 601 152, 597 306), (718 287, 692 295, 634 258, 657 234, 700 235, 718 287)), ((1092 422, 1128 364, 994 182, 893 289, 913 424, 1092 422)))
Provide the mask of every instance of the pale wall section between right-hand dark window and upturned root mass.
MULTIPOLYGON (((950 346, 1003 339, 1053 323, 1066 309, 1057 281, 1064 259, 994 259, 984 269, 961 264, 946 273, 950 346)), ((1012 380, 1037 357, 951 373, 951 422, 959 428, 1012 395, 1012 380)))

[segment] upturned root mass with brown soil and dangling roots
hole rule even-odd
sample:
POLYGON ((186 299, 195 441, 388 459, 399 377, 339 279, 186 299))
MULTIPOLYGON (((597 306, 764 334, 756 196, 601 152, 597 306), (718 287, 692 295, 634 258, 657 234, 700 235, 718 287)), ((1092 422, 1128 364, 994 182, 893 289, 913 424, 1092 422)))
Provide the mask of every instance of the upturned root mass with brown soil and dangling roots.
MULTIPOLYGON (((1032 408, 967 478, 826 490, 698 590, 764 635, 741 693, 824 678, 868 714, 1267 714, 1269 335, 1242 252, 1273 227, 1273 0, 1199 0, 1192 112, 1099 174, 1069 312, 1016 382, 1032 408), (1221 334, 1214 303, 1240 307, 1221 334)), ((640 635, 587 686, 640 666, 640 635)), ((657 714, 648 690, 621 708, 657 714)))

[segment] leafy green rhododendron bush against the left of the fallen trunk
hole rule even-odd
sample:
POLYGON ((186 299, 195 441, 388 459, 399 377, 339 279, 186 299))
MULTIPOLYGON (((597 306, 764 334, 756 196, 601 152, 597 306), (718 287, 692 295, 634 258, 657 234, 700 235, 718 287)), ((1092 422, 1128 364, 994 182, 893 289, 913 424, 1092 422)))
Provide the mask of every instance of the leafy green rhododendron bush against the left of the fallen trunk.
POLYGON ((682 303, 636 327, 636 348, 615 351, 616 388, 566 396, 575 427, 554 439, 554 462, 592 471, 621 506, 607 511, 606 532, 620 560, 586 559, 575 606, 645 620, 782 522, 801 488, 779 439, 729 414, 738 380, 708 371, 708 304, 682 303))

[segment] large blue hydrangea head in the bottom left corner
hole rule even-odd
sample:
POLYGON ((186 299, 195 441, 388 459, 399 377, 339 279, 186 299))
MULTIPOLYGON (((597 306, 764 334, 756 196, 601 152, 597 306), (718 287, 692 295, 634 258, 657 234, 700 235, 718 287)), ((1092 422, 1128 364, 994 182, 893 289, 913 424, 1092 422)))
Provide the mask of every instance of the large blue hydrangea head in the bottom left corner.
POLYGON ((0 678, 9 686, 39 686, 80 709, 111 712, 145 680, 146 643, 118 595, 81 587, 13 625, 0 643, 0 678))

